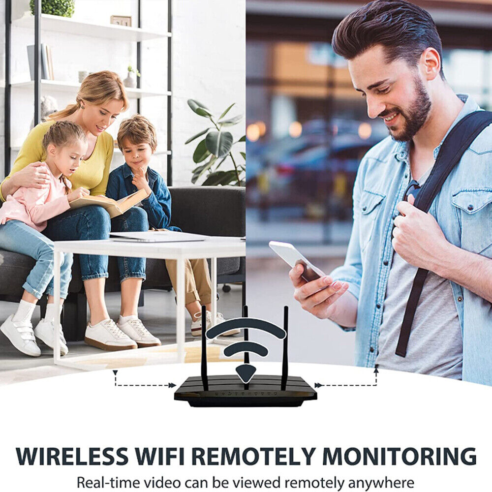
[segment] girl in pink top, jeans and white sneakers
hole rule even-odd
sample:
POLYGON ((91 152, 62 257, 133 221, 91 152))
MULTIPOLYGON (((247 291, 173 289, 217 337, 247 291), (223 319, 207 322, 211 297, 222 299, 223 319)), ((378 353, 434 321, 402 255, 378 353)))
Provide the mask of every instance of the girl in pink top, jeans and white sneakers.
MULTIPOLYGON (((41 231, 46 221, 70 208, 69 203, 89 194, 85 188, 71 191, 65 179, 79 167, 87 152, 87 138, 82 128, 71 122, 53 124, 43 139, 49 186, 21 186, 7 197, 0 209, 0 240, 5 249, 31 256, 36 264, 24 283, 24 294, 19 307, 1 325, 1 332, 21 352, 37 357, 41 351, 35 338, 53 348, 55 344, 54 318, 58 303, 53 297, 53 242, 41 231), (48 294, 46 315, 32 330, 31 316, 36 303, 48 294)), ((60 297, 66 298, 71 279, 72 255, 65 253, 61 266, 60 297)), ((60 330, 60 351, 68 353, 63 332, 60 330)))

